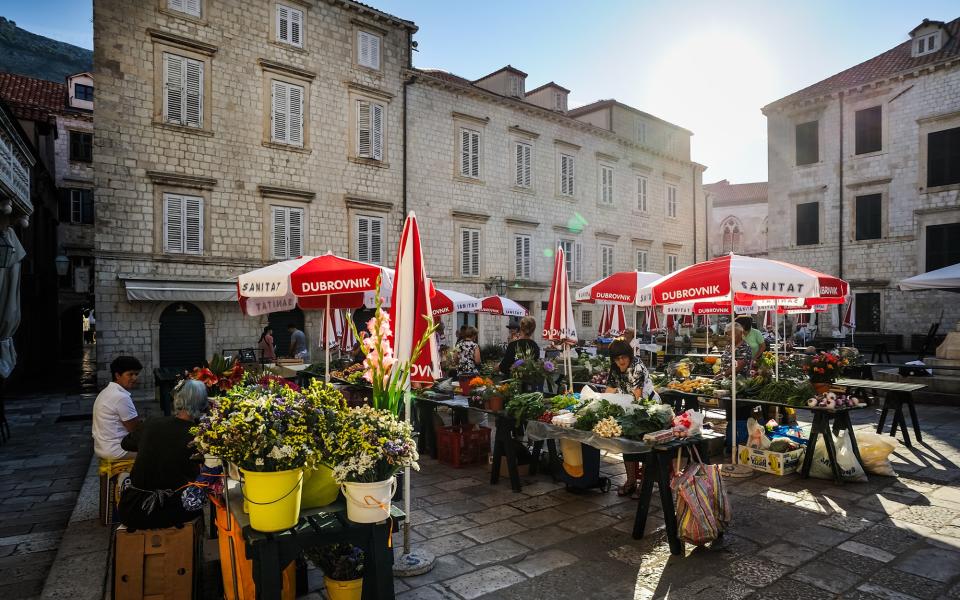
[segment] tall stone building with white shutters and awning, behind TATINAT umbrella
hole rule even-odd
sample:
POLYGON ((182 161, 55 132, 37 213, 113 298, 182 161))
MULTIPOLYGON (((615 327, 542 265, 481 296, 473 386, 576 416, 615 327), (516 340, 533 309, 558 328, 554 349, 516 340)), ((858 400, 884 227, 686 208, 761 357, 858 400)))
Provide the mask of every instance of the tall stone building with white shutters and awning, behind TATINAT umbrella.
POLYGON ((149 372, 255 347, 268 318, 240 314, 239 273, 347 254, 347 211, 399 229, 415 30, 343 0, 95 1, 101 381, 119 354, 149 372))

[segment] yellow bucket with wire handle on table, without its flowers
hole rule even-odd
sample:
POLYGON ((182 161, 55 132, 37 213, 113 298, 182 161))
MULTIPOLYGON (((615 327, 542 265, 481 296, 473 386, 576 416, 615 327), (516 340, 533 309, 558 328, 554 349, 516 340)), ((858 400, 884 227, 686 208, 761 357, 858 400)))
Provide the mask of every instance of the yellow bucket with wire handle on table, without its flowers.
POLYGON ((250 513, 250 527, 274 532, 290 529, 300 520, 303 470, 243 473, 243 499, 250 513))

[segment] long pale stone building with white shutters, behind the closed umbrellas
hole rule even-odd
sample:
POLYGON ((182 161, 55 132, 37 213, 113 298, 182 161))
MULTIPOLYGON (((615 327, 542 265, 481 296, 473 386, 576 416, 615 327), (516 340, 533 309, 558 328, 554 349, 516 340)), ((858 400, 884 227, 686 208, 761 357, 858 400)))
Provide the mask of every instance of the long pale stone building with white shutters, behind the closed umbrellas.
MULTIPOLYGON (((566 88, 526 92, 526 77, 509 65, 475 81, 410 71, 408 204, 434 281, 477 296, 505 290, 542 324, 558 245, 573 289, 702 259, 692 133, 615 100, 567 110, 566 88)), ((600 309, 574 311, 581 339, 594 337, 600 309)), ((481 343, 505 337, 502 317, 459 318, 479 322, 481 343)))

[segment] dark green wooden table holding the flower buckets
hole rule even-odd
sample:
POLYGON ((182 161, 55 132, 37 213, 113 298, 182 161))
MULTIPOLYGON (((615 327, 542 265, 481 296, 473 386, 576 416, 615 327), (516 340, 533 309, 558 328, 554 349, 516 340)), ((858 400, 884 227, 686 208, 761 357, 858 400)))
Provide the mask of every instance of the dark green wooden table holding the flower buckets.
POLYGON ((260 600, 280 600, 281 574, 305 548, 344 542, 363 548, 365 553, 363 600, 394 598, 393 549, 388 546, 388 541, 405 518, 403 511, 396 506, 391 507, 388 520, 354 523, 347 520, 346 504, 338 500, 327 506, 300 511, 300 521, 290 529, 263 533, 250 527, 250 518, 241 510, 239 482, 228 480, 225 498, 227 518, 236 519, 243 532, 260 600))

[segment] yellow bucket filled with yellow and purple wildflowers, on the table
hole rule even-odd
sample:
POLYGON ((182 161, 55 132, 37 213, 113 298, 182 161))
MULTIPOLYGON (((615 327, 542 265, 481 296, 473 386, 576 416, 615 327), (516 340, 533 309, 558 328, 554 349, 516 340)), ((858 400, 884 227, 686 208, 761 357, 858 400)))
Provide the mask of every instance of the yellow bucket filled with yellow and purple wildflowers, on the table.
POLYGON ((317 436, 334 415, 276 382, 237 385, 212 399, 191 431, 202 454, 240 468, 250 526, 282 531, 300 518, 303 470, 320 461, 317 436))

